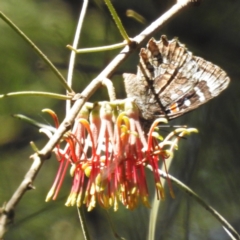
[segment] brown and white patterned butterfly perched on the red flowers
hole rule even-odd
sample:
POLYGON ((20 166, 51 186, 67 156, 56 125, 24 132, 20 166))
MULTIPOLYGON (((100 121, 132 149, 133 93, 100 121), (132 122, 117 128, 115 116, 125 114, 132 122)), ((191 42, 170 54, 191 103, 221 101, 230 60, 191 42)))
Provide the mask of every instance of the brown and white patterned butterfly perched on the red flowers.
POLYGON ((224 70, 194 56, 177 38, 152 38, 139 56, 137 74, 123 78, 127 97, 147 121, 179 117, 218 96, 230 82, 224 70))

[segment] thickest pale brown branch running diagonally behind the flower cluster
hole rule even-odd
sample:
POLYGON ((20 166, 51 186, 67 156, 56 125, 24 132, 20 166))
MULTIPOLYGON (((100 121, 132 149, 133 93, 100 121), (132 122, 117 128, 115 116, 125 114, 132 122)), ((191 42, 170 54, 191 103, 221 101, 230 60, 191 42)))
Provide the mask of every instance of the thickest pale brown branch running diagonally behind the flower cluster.
MULTIPOLYGON (((186 6, 191 0, 184 0, 181 2, 177 2, 170 8, 165 14, 159 17, 156 21, 154 21, 149 27, 147 27, 143 32, 141 32, 138 36, 134 38, 136 43, 141 44, 144 40, 150 38, 150 36, 159 30, 160 27, 163 26, 171 17, 173 17, 176 13, 178 13, 184 6, 186 6)), ((38 171, 40 170, 45 159, 49 158, 52 150, 55 145, 60 141, 64 133, 71 129, 77 114, 82 108, 83 104, 87 101, 87 99, 102 85, 102 80, 105 78, 110 78, 116 68, 124 61, 126 58, 132 53, 133 49, 129 46, 125 47, 120 54, 118 54, 110 64, 94 79, 79 95, 79 99, 74 103, 69 114, 65 117, 64 121, 60 124, 57 131, 54 133, 53 137, 47 142, 45 147, 40 150, 39 154, 35 153, 32 156, 34 162, 30 167, 30 170, 27 172, 24 180, 20 183, 17 190, 14 192, 11 199, 6 203, 4 211, 0 216, 0 239, 4 235, 6 231, 6 226, 9 220, 9 213, 14 211, 14 208, 18 204, 19 200, 25 194, 25 192, 29 189, 29 185, 35 179, 38 171)))

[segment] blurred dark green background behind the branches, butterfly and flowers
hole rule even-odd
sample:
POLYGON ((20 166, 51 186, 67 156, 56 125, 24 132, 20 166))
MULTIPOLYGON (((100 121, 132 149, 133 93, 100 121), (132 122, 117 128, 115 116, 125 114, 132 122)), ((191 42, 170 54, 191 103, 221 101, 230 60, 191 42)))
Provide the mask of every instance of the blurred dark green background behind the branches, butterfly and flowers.
MULTIPOLYGON (((164 13, 174 1, 113 1, 128 34, 133 37, 164 13), (146 24, 126 17, 126 10, 141 14, 146 24)), ((2 0, 3 11, 53 61, 64 76, 73 41, 81 1, 2 0)), ((219 97, 172 122, 196 127, 199 134, 182 140, 170 173, 186 183, 219 211, 240 232, 240 1, 205 0, 189 6, 168 22, 156 35, 177 36, 190 51, 221 66, 231 84, 219 97)), ((90 1, 85 19, 81 47, 101 46, 122 41, 103 1, 90 1)), ((80 92, 118 51, 82 54, 77 57, 74 90, 80 92)), ((125 96, 121 74, 136 72, 134 53, 113 76, 118 98, 125 96)), ((0 93, 36 90, 64 93, 55 75, 5 22, 0 20, 0 93)), ((104 100, 100 89, 92 101, 104 100)), ((8 201, 27 169, 33 153, 29 142, 41 148, 45 136, 24 122, 11 117, 21 113, 52 124, 41 113, 51 108, 62 119, 63 101, 39 97, 13 97, 0 101, 0 204, 8 201)), ((14 223, 5 239, 82 239, 76 208, 64 206, 70 192, 71 178, 66 177, 55 202, 44 199, 53 183, 58 164, 53 157, 46 161, 35 180, 36 190, 28 192, 16 208, 14 223)), ((152 182, 151 182, 152 183, 152 182)), ((150 188, 152 188, 152 184, 150 188)), ((193 199, 174 187, 176 199, 167 196, 161 204, 155 239, 230 239, 221 224, 193 199)), ((151 197, 153 193, 151 193, 151 197)), ((149 209, 134 211, 120 207, 110 210, 117 232, 126 239, 146 239, 149 209)), ((92 239, 114 239, 109 223, 100 208, 86 213, 92 239)))

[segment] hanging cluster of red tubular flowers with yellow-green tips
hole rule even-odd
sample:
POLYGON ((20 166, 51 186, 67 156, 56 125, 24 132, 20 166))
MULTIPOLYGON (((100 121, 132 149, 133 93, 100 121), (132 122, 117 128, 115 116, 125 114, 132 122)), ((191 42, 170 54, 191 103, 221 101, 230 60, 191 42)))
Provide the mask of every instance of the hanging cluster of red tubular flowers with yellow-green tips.
MULTIPOLYGON (((52 115, 57 128, 55 113, 45 111, 52 115)), ((132 101, 85 106, 72 131, 63 137, 65 148, 61 149, 59 144, 54 149, 59 169, 46 201, 56 199, 70 167, 73 183, 66 206, 86 204, 90 211, 98 203, 117 210, 119 202, 128 209, 142 202, 149 207, 145 173, 148 164, 153 169, 157 196, 164 198, 159 161, 165 164, 173 156, 180 135, 192 131, 176 129, 163 139, 156 126, 166 122, 166 119, 157 119, 146 134, 141 127, 139 110, 132 101)))

